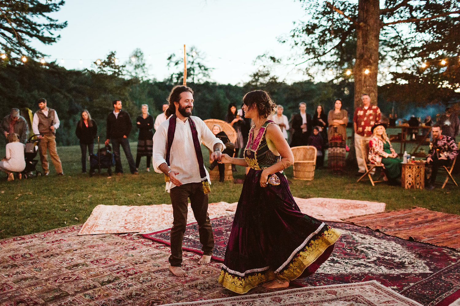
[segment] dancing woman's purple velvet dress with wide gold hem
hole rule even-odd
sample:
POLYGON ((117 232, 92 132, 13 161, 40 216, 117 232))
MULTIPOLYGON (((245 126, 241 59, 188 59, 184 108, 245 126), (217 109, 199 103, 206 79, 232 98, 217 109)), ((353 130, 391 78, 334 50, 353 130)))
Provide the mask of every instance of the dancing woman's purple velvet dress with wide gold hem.
POLYGON ((260 187, 262 169, 275 164, 265 140, 267 121, 244 151, 251 169, 246 175, 225 252, 219 283, 236 293, 246 293, 275 277, 306 277, 328 259, 340 232, 300 212, 283 173, 271 174, 260 187))

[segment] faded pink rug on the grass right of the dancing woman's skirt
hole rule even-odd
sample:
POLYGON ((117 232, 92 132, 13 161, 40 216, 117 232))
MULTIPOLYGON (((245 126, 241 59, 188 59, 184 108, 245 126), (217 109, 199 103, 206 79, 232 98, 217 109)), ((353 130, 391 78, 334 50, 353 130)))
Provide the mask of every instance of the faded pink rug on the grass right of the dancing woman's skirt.
POLYGON ((302 199, 294 197, 304 214, 322 221, 343 222, 349 217, 385 211, 385 203, 331 198, 302 199))

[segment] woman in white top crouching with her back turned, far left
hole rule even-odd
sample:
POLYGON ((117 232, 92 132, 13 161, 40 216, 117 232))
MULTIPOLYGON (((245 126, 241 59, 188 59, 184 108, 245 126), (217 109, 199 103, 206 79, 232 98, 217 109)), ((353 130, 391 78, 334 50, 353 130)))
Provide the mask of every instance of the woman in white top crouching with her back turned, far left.
MULTIPOLYGON (((14 180, 13 172, 21 172, 26 167, 24 159, 24 144, 19 142, 17 134, 8 135, 8 144, 6 144, 6 157, 0 161, 0 171, 8 174, 8 180, 14 180)), ((18 174, 21 179, 21 173, 18 174)))

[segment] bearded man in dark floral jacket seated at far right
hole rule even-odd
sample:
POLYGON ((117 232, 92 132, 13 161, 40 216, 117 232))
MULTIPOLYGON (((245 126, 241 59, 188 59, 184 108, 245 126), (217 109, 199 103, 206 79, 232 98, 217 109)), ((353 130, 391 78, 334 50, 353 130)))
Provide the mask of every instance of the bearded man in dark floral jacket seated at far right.
POLYGON ((458 154, 458 148, 455 144, 455 139, 443 135, 443 130, 439 124, 433 125, 431 132, 433 134, 433 140, 430 143, 430 151, 426 157, 426 162, 428 166, 431 166, 431 171, 429 167, 427 167, 425 170, 427 178, 426 189, 428 190, 434 189, 438 168, 443 166, 450 166, 455 156, 458 154))

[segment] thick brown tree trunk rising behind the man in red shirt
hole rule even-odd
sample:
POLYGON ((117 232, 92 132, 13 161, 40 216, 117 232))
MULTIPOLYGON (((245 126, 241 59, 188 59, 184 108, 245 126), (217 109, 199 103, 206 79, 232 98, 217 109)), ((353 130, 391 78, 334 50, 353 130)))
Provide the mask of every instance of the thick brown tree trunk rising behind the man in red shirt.
POLYGON ((380 7, 379 0, 359 0, 355 78, 355 108, 361 106, 361 95, 368 94, 377 105, 377 72, 379 68, 380 7), (366 74, 366 69, 369 73, 366 74))

